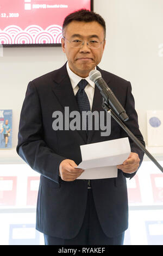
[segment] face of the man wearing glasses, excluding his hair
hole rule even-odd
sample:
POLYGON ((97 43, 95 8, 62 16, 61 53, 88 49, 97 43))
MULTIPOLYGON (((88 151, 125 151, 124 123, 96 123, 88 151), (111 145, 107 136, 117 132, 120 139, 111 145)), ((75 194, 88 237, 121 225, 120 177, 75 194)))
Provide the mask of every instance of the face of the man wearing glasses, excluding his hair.
POLYGON ((89 48, 86 43, 81 48, 74 48, 70 42, 62 38, 62 51, 66 53, 70 69, 80 77, 89 76, 89 72, 101 62, 103 56, 105 47, 103 27, 96 21, 72 21, 65 28, 64 36, 69 41, 78 39, 102 42, 99 48, 89 48))

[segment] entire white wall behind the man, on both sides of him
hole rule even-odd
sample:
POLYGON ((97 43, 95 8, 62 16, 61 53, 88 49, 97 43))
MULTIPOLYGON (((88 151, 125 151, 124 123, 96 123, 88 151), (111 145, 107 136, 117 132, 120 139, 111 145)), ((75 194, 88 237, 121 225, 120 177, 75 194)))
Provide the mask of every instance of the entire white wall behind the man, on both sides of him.
MULTIPOLYGON (((94 0, 106 22, 106 48, 101 64, 131 82, 140 130, 147 142, 146 111, 163 109, 162 0, 94 0)), ((13 111, 13 147, 17 145, 20 111, 27 84, 65 63, 60 47, 4 48, 0 57, 0 109, 13 111)))

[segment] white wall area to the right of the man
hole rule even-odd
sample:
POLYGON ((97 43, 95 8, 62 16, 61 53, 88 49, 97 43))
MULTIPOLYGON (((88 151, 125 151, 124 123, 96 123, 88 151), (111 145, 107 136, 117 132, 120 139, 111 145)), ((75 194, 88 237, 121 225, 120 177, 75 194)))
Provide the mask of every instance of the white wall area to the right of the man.
POLYGON ((107 27, 101 66, 131 82, 146 142, 146 111, 163 109, 163 56, 158 54, 163 43, 162 10, 162 0, 95 1, 95 11, 107 27))

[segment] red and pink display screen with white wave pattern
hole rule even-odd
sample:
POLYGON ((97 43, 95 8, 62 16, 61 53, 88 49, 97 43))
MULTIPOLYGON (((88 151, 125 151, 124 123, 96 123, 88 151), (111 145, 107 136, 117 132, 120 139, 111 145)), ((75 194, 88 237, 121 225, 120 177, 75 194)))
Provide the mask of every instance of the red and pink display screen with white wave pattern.
POLYGON ((65 17, 91 0, 0 0, 0 44, 58 45, 65 17))

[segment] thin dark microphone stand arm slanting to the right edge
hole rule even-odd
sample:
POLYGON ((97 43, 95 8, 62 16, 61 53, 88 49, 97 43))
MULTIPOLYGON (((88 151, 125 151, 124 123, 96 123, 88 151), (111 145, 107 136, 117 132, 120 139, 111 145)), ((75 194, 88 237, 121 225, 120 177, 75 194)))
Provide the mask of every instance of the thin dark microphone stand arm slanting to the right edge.
MULTIPOLYGON (((103 109, 108 112, 112 118, 114 118, 117 123, 122 127, 122 129, 124 131, 126 131, 126 133, 128 134, 128 136, 136 143, 136 145, 149 157, 149 159, 151 159, 153 161, 153 163, 161 170, 161 172, 163 173, 163 168, 162 166, 155 160, 155 158, 148 152, 148 150, 144 147, 144 145, 139 141, 139 139, 137 139, 135 137, 135 135, 128 129, 128 127, 126 125, 124 125, 124 123, 120 120, 120 118, 117 117, 117 115, 114 113, 114 111, 112 111, 111 106, 109 105, 109 100, 108 102, 106 102, 106 95, 104 96, 103 93, 101 92, 102 96, 103 96, 103 103, 102 103, 102 107, 103 109), (105 99, 104 99, 105 97, 105 99)), ((108 97, 108 95, 107 95, 108 97)))

